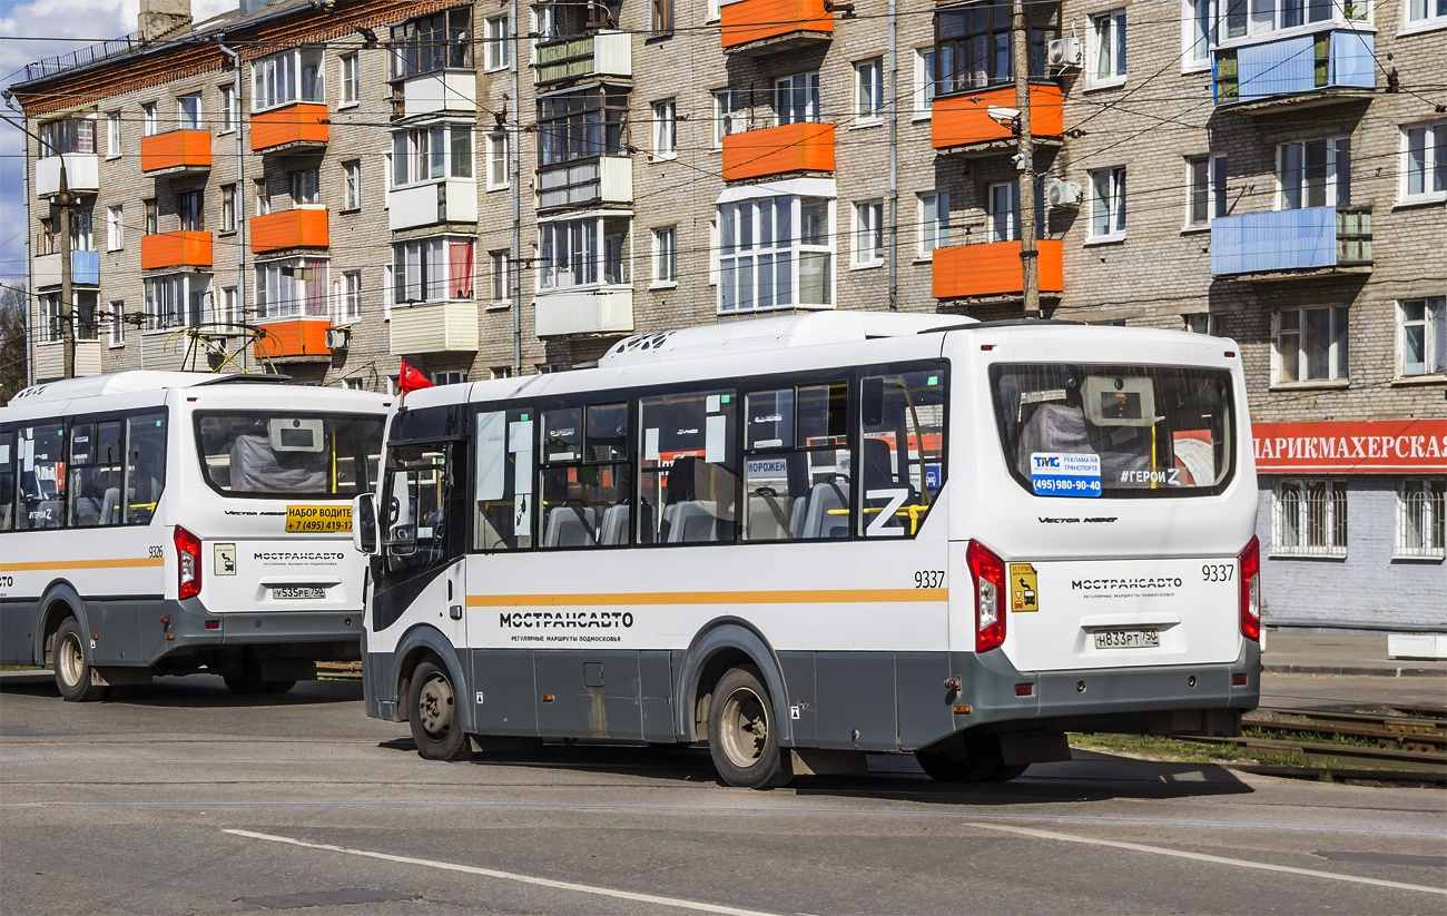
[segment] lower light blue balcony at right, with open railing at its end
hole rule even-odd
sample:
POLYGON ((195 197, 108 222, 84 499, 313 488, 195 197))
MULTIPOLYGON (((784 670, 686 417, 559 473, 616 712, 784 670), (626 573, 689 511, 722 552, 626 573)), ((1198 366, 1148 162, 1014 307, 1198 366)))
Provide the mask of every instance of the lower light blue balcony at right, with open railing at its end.
POLYGON ((1304 207, 1211 220, 1211 275, 1273 281, 1370 273, 1372 210, 1304 207))

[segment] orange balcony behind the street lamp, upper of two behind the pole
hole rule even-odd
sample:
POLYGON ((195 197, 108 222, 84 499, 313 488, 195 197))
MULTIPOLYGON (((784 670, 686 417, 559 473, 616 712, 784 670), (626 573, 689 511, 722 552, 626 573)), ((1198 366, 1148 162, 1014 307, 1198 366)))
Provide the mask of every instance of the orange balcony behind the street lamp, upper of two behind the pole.
MULTIPOLYGON (((1064 94, 1053 84, 1030 85, 1030 136, 1037 146, 1059 146, 1065 132, 1064 94)), ((939 152, 988 156, 1014 152, 1014 130, 990 117, 990 109, 1014 109, 1014 87, 942 96, 930 104, 930 146, 939 152)))

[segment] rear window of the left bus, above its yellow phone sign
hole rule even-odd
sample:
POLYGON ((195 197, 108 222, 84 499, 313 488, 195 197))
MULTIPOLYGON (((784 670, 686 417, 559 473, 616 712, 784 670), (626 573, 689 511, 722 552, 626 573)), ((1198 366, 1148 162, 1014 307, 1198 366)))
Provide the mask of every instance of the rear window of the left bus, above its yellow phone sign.
POLYGON ((376 482, 382 423, 365 414, 198 414, 201 470, 224 496, 350 499, 376 482))

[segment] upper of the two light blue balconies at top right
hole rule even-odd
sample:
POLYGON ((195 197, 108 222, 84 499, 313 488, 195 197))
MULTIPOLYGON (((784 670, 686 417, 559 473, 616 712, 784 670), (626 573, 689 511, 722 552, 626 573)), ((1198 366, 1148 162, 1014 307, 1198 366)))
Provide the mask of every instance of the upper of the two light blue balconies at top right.
POLYGON ((1211 85, 1217 106, 1269 114, 1370 98, 1375 35, 1328 29, 1253 45, 1217 48, 1211 85))

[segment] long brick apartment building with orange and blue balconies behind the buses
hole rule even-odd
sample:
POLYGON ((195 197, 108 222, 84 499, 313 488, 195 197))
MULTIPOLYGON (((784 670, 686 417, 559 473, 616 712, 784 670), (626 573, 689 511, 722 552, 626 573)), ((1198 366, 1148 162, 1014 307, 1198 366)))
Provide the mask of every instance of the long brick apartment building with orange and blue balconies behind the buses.
MULTIPOLYGON (((1024 9, 1045 314, 1237 342, 1270 618, 1447 624, 1447 6, 1024 9)), ((12 87, 36 376, 62 161, 80 372, 386 389, 780 311, 1020 317, 1011 41, 988 0, 145 0, 12 87)))

